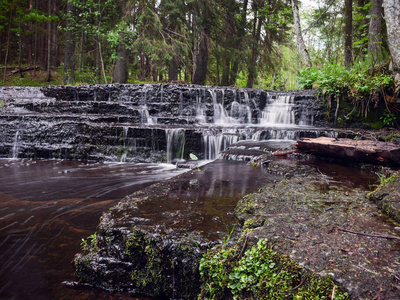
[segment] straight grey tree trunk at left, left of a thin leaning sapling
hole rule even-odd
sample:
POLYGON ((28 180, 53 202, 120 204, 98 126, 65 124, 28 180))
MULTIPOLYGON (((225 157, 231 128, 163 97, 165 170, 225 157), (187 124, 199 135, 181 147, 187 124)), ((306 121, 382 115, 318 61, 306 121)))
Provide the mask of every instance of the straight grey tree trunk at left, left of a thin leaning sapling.
POLYGON ((69 15, 72 11, 72 4, 67 2, 67 31, 65 33, 65 49, 64 49, 64 84, 75 83, 75 66, 73 56, 75 54, 75 39, 71 29, 69 15))

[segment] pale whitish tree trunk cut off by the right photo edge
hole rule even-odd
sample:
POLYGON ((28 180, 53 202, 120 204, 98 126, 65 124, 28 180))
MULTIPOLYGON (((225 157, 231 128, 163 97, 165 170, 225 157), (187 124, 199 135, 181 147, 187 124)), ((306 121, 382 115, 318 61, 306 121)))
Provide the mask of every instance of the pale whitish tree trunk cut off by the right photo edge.
POLYGON ((392 57, 392 68, 400 72, 400 1, 383 0, 385 21, 389 41, 389 50, 392 57))

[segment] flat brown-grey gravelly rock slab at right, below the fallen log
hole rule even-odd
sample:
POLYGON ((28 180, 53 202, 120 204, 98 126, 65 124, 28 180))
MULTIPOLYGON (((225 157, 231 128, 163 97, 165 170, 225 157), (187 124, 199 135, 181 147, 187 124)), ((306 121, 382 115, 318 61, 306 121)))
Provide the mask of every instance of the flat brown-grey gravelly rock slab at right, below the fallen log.
POLYGON ((335 185, 307 168, 296 171, 306 176, 292 176, 281 161, 271 168, 287 179, 247 195, 235 209, 250 230, 247 237, 267 239, 306 270, 330 274, 354 298, 398 299, 399 243, 385 235, 400 235, 396 224, 366 199, 367 192, 335 185))

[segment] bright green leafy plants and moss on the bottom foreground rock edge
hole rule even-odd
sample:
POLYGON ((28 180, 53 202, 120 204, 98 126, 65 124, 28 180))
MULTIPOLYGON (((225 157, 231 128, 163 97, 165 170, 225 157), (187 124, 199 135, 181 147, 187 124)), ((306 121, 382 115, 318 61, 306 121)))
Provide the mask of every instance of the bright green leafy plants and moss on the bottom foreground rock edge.
POLYGON ((213 248, 200 261, 199 299, 348 299, 330 278, 304 274, 289 257, 273 250, 265 239, 244 253, 227 244, 213 248))

